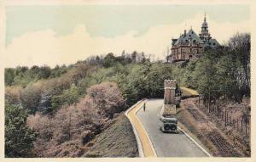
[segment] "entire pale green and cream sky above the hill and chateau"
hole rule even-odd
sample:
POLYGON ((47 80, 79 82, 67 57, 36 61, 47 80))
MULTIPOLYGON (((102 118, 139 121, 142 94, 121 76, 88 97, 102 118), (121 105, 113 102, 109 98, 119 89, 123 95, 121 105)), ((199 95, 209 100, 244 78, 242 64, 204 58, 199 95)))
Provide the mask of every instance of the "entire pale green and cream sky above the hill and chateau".
POLYGON ((211 36, 221 44, 250 32, 250 7, 244 4, 8 6, 5 67, 54 67, 123 50, 164 59, 172 38, 191 27, 199 34, 205 13, 211 36))

